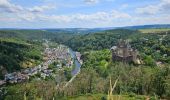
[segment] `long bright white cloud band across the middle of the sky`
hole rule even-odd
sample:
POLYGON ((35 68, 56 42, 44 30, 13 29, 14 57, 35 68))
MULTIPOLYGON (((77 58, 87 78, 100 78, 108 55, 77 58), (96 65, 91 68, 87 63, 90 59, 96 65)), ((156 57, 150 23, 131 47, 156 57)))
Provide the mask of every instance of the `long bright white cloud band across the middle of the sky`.
MULTIPOLYGON (((96 12, 92 14, 73 14, 73 15, 52 15, 52 16, 46 16, 46 17, 41 17, 45 18, 43 20, 48 20, 48 21, 56 21, 56 22, 102 22, 102 21, 113 21, 117 19, 129 19, 131 18, 130 15, 123 13, 123 12, 118 12, 118 11, 111 11, 111 12, 96 12)), ((40 18, 37 18, 40 19, 40 18)))

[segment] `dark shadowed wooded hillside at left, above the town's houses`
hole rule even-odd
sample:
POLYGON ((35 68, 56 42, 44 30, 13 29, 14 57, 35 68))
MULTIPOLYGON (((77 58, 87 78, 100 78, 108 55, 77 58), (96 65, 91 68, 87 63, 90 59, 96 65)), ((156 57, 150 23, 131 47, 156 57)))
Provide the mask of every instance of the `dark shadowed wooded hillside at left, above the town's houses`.
POLYGON ((0 38, 0 79, 3 73, 34 67, 42 61, 41 43, 0 38))

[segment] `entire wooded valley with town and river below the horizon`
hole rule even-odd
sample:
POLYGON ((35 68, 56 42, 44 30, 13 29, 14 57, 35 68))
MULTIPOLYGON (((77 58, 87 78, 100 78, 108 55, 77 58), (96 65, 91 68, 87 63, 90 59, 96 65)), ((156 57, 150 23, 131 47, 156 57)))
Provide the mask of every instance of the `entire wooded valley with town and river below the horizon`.
POLYGON ((168 29, 148 34, 129 29, 67 32, 0 31, 0 99, 169 98, 168 29), (121 40, 128 45, 118 45, 121 40), (131 50, 137 50, 140 63, 116 58, 131 56, 131 50), (112 85, 113 95, 108 95, 112 85))

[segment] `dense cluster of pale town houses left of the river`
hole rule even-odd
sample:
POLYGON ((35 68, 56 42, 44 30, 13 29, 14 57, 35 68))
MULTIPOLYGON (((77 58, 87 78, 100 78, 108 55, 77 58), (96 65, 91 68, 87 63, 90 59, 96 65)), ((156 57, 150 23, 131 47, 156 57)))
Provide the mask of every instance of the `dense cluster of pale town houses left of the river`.
POLYGON ((39 73, 41 78, 46 78, 48 76, 53 76, 53 70, 48 69, 48 66, 55 61, 60 63, 56 68, 62 68, 64 63, 66 67, 71 67, 73 65, 73 60, 69 54, 69 49, 65 46, 58 46, 57 48, 46 48, 44 50, 44 62, 36 67, 27 68, 21 72, 13 72, 5 74, 5 79, 0 80, 0 86, 8 83, 20 83, 29 80, 31 76, 39 73))

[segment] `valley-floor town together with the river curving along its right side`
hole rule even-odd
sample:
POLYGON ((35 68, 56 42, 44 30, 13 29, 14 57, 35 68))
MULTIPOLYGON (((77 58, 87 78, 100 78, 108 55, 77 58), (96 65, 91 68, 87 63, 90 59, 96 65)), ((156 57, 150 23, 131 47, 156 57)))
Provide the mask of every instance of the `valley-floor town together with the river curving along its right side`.
MULTIPOLYGON (((4 74, 4 80, 0 80, 0 85, 16 84, 29 82, 32 80, 48 80, 53 79, 62 84, 70 83, 80 72, 83 61, 80 59, 81 54, 74 52, 67 46, 52 43, 44 40, 42 43, 44 50, 42 51, 43 61, 37 66, 28 66, 30 68, 21 69, 12 73, 4 74), (68 77, 64 81, 59 80, 62 73, 68 77), (68 75, 67 75, 68 74, 68 75), (69 81, 70 80, 70 81, 69 81), (68 82, 67 82, 68 81, 68 82)), ((23 66, 21 66, 23 67, 23 66)), ((2 72, 3 73, 3 72, 2 72)))

